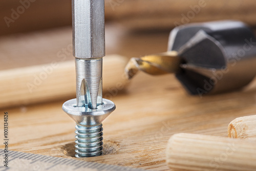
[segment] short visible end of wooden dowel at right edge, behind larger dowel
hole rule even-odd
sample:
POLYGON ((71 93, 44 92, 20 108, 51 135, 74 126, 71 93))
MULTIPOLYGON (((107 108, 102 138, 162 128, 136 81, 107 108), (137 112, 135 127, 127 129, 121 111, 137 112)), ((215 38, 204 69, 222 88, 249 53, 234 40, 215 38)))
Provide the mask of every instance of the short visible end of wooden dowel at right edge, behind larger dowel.
POLYGON ((231 121, 228 125, 228 137, 256 140, 256 115, 231 121))

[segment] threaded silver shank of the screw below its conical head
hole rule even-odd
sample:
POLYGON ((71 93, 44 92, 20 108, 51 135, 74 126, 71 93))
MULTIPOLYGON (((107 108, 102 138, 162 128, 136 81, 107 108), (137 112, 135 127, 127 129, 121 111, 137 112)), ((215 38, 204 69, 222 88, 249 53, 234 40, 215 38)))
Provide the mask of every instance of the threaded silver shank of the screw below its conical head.
POLYGON ((97 126, 76 125, 76 157, 95 157, 102 155, 102 124, 97 126))

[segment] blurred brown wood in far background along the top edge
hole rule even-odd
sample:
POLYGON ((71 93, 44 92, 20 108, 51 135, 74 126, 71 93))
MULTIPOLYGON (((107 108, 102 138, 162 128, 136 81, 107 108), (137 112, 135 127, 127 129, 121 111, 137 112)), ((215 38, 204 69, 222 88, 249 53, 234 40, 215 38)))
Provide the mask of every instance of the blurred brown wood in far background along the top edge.
MULTIPOLYGON (((20 1, 0 1, 0 35, 71 25, 70 0, 22 2, 28 1, 31 3, 21 11, 24 5, 20 1), (20 12, 15 15, 17 8, 20 12), (9 18, 7 23, 5 17, 9 18)), ((179 24, 218 19, 237 19, 255 26, 255 6, 253 0, 105 0, 105 18, 106 23, 119 23, 133 30, 171 29, 179 24)))

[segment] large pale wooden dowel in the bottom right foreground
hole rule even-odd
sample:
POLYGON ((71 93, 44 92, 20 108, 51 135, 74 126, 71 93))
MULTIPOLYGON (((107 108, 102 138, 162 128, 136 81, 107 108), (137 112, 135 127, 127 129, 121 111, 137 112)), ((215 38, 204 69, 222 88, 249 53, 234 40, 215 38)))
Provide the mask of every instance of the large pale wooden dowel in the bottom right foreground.
POLYGON ((255 170, 256 146, 252 141, 198 134, 170 137, 166 162, 174 170, 255 170))

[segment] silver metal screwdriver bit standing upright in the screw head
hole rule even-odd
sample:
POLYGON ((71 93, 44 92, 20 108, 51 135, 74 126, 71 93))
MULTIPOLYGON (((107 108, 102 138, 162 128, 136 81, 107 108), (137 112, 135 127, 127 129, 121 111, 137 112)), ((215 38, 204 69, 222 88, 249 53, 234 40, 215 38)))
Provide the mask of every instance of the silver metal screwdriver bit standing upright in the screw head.
POLYGON ((83 105, 79 93, 85 79, 91 93, 89 107, 96 109, 97 101, 102 102, 99 88, 102 89, 102 57, 105 56, 104 0, 72 0, 72 19, 77 104, 83 105))

